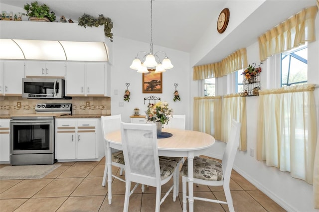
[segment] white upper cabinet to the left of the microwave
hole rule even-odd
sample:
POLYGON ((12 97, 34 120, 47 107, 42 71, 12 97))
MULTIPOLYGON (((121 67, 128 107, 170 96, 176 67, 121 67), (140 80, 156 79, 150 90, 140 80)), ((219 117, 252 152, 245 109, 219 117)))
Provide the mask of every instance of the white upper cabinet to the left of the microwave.
POLYGON ((24 62, 1 61, 0 66, 0 95, 21 96, 24 62))

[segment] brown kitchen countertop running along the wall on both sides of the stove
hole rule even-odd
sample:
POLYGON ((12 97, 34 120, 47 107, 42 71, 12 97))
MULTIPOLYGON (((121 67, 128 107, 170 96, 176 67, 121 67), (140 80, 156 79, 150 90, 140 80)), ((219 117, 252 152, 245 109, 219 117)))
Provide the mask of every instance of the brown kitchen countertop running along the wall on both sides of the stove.
POLYGON ((56 113, 29 113, 29 114, 10 114, 0 115, 0 119, 10 119, 11 117, 27 117, 27 116, 55 116, 55 118, 100 118, 101 116, 108 116, 111 114, 56 114, 56 113))

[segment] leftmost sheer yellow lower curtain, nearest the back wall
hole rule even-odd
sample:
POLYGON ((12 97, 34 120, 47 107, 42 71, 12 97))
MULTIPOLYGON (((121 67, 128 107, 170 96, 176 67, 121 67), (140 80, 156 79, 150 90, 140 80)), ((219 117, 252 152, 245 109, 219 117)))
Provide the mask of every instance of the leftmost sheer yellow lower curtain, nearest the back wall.
POLYGON ((221 96, 194 97, 195 131, 205 132, 220 140, 221 96))

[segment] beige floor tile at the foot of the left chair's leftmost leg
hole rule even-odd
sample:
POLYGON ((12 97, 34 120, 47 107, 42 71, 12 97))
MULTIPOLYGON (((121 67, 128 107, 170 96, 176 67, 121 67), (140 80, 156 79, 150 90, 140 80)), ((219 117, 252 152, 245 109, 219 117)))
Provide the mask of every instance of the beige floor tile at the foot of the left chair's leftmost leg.
POLYGON ((102 177, 87 177, 81 184, 74 190, 71 197, 74 196, 97 196, 106 195, 108 187, 101 185, 102 177))

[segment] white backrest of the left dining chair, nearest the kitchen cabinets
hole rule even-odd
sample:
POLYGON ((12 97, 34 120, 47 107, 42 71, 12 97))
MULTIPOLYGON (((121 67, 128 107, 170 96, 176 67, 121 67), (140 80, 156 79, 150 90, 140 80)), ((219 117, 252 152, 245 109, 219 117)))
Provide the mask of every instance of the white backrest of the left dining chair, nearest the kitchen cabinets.
MULTIPOLYGON (((109 115, 109 116, 101 116, 101 126, 102 126, 102 134, 103 134, 103 139, 105 138, 105 135, 117 131, 121 129, 121 114, 119 115, 109 115)), ((104 151, 105 155, 107 155, 107 150, 106 150, 106 141, 104 142, 104 151)), ((111 149, 111 152, 118 152, 120 150, 117 149, 111 149)))

